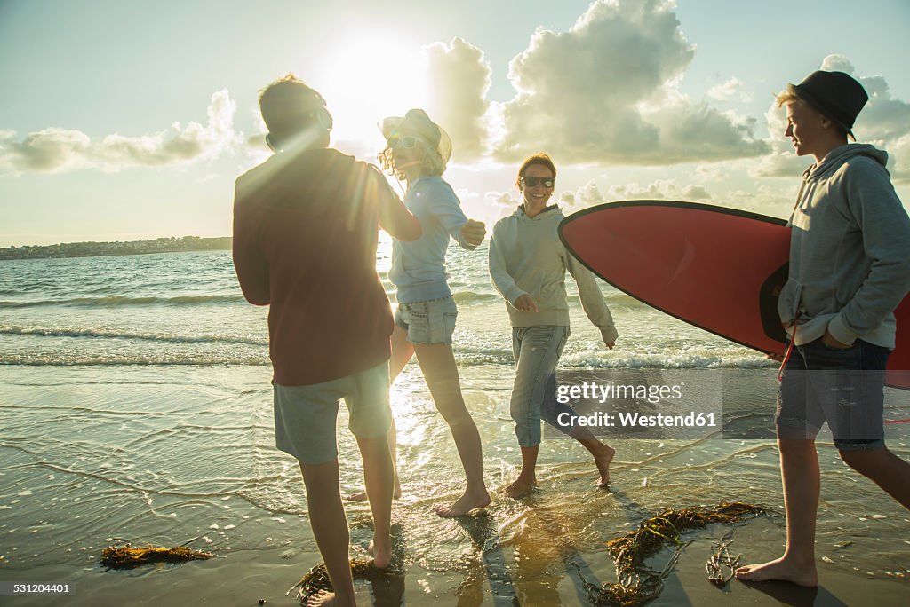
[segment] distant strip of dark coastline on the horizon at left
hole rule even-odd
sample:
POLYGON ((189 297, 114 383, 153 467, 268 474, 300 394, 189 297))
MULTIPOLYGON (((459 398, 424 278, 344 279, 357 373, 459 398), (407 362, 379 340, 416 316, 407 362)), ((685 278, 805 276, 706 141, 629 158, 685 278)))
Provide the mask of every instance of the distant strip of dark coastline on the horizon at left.
POLYGON ((231 246, 230 236, 200 238, 183 236, 156 238, 128 243, 62 243, 28 244, 0 249, 0 261, 10 259, 56 259, 62 257, 105 257, 107 255, 141 255, 151 253, 184 253, 187 251, 223 251, 231 246))

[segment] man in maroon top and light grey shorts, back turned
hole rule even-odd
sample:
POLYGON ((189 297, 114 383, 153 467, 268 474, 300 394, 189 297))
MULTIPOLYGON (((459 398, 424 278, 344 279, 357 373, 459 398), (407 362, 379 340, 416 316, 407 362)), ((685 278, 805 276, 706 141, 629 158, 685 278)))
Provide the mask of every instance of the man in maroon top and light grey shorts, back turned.
POLYGON ((420 223, 370 164, 329 147, 325 101, 293 75, 259 96, 276 154, 237 180, 234 266, 250 303, 269 305, 278 449, 294 455, 335 593, 354 605, 335 423, 345 399, 363 458, 377 567, 391 559, 389 299, 376 274, 378 227, 399 240, 420 223))

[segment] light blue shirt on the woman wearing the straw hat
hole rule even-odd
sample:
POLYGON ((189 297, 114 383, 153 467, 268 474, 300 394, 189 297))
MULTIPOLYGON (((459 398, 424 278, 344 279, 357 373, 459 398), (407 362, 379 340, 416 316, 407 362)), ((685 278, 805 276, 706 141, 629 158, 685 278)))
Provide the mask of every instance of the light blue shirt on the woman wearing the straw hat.
POLYGON ((423 235, 419 240, 392 242, 392 267, 389 280, 398 290, 399 303, 426 302, 449 297, 446 282, 446 249, 449 238, 469 251, 460 227, 468 223, 461 203, 450 184, 441 177, 419 177, 404 196, 408 210, 420 220, 423 235))

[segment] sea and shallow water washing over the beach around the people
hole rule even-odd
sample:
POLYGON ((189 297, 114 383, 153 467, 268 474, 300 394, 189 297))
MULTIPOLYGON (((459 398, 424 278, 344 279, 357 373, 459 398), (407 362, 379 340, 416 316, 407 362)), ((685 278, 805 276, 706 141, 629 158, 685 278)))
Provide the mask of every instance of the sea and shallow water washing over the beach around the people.
MULTIPOLYGON (((477 267, 481 255, 453 273, 462 294, 455 341, 494 489, 517 475, 520 458, 508 410, 510 332, 477 267)), ((143 604, 156 593, 179 597, 166 604, 219 597, 255 604, 260 594, 293 604, 283 592, 319 562, 318 551, 297 463, 274 447, 265 310, 244 303, 233 281, 227 252, 0 264, 0 580, 74 582, 71 604, 143 604), (191 539, 191 546, 220 558, 131 572, 96 564, 110 543, 191 539)), ((605 439, 618 452, 613 483, 602 491, 587 453, 571 440, 548 437, 539 491, 518 501, 500 497, 479 515, 443 521, 432 507, 454 499, 463 477, 448 428, 411 364, 391 394, 404 487, 394 517, 407 572, 387 587, 359 584, 361 598, 585 604, 582 580, 615 581, 604 542, 664 507, 724 500, 772 509, 735 527, 744 562, 780 552, 783 504, 769 433, 773 367, 608 287, 604 292, 621 332, 619 347, 602 350, 576 298, 561 363, 566 377, 591 368, 709 373, 730 405, 723 412, 727 435, 748 428, 764 438, 724 440, 720 428, 685 438, 613 436, 605 439)), ((906 393, 889 390, 888 406, 893 419, 910 416, 906 393)), ((346 426, 342 408, 342 493, 362 483, 346 426)), ((887 430, 891 448, 908 458, 906 426, 887 430)), ((825 574, 857 584, 871 580, 885 599, 905 592, 910 517, 847 469, 827 441, 823 435, 819 448, 823 580, 825 574)), ((349 505, 349 519, 352 553, 363 556, 368 507, 349 505)), ((684 551, 690 560, 681 559, 668 578, 666 601, 693 592, 691 576, 703 582, 703 562, 711 543, 730 531, 725 527, 687 535, 694 540, 684 551), (702 573, 693 562, 701 562, 702 573)), ((723 602, 722 591, 699 588, 695 604, 723 602)))

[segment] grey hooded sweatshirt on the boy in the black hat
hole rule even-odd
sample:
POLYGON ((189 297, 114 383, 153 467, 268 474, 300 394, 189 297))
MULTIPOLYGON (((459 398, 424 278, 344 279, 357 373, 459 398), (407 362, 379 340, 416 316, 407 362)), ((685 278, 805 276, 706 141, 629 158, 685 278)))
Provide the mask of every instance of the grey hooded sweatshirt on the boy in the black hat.
POLYGON ((827 329, 841 343, 895 347, 894 310, 910 290, 910 218, 887 159, 872 145, 844 144, 803 174, 778 300, 796 345, 827 329))

